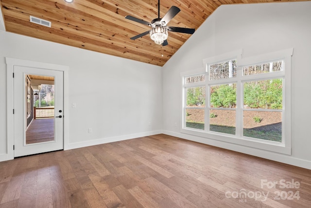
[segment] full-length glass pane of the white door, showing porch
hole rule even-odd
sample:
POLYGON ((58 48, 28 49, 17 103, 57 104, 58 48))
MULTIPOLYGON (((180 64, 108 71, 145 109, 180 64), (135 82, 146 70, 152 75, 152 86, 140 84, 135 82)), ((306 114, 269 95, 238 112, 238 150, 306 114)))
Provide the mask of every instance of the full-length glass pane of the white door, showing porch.
POLYGON ((25 75, 26 141, 25 144, 54 141, 54 77, 25 75))

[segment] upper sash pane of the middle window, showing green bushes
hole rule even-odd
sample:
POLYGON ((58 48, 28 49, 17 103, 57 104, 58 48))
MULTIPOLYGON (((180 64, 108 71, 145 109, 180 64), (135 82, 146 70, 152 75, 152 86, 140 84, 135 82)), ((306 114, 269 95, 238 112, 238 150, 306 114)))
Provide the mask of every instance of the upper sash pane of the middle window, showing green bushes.
POLYGON ((237 105, 237 85, 210 86, 210 107, 235 108, 237 105))

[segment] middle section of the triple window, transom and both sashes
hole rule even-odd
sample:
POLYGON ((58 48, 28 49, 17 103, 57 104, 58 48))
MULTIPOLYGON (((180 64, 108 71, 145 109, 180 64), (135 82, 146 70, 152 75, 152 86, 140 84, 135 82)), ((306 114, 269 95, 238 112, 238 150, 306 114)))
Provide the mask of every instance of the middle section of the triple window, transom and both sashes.
POLYGON ((236 134, 237 59, 207 66, 209 131, 236 134))

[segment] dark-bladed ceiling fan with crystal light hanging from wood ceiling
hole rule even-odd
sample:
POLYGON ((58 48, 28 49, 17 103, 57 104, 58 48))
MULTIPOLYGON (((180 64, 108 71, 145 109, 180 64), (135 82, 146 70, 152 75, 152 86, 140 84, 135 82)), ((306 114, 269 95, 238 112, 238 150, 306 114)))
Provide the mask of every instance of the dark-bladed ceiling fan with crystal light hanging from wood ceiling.
POLYGON ((160 0, 158 0, 158 17, 151 21, 151 23, 144 21, 142 19, 138 19, 136 17, 132 16, 126 16, 126 19, 130 19, 132 21, 148 25, 149 27, 152 27, 151 30, 146 31, 142 34, 136 35, 134 37, 131 37, 132 40, 137 39, 138 37, 142 37, 144 35, 150 34, 150 38, 155 41, 156 44, 162 46, 168 45, 167 37, 168 37, 168 31, 170 32, 177 32, 177 33, 187 33, 187 34, 193 34, 194 29, 191 28, 181 28, 181 27, 172 27, 168 26, 167 24, 177 15, 178 12, 180 12, 180 9, 176 6, 172 6, 170 10, 164 15, 163 18, 160 18, 160 0))

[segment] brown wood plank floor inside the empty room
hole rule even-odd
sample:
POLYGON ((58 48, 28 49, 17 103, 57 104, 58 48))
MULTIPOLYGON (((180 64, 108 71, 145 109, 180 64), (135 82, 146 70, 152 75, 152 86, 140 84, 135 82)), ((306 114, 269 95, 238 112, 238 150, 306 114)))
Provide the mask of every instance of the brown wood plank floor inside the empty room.
POLYGON ((163 134, 0 162, 1 208, 310 205, 311 170, 163 134))

